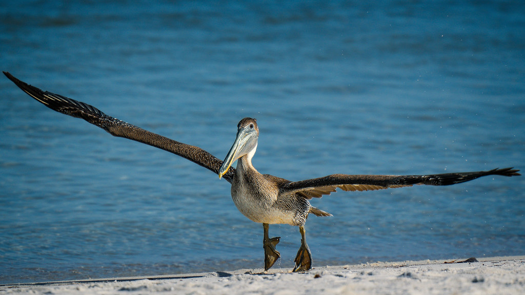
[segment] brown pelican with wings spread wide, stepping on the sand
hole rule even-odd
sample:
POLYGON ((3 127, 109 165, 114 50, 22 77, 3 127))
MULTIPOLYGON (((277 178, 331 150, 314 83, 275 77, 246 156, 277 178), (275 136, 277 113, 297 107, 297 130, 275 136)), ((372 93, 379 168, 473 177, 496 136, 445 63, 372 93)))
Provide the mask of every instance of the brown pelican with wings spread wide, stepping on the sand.
POLYGON ((293 271, 311 269, 312 257, 306 243, 304 223, 308 214, 331 216, 310 205, 309 200, 329 195, 336 188, 343 191, 372 191, 375 189, 426 185, 451 185, 486 175, 515 176, 519 170, 513 168, 493 169, 490 171, 445 173, 434 175, 345 175, 333 174, 310 180, 290 182, 268 174, 260 174, 251 164, 251 158, 257 149, 259 128, 255 119, 244 118, 237 125, 237 138, 226 155, 220 161, 208 152, 193 145, 184 144, 146 131, 129 123, 104 114, 89 104, 70 99, 59 94, 40 90, 27 85, 8 72, 4 74, 29 96, 45 104, 50 109, 82 118, 91 124, 106 130, 111 135, 119 136, 185 157, 217 173, 232 184, 232 198, 241 213, 250 220, 262 223, 264 228, 265 271, 274 265, 280 257, 275 249, 279 237, 269 238, 270 224, 289 224, 299 226, 301 247, 295 258, 293 271), (237 162, 237 168, 232 164, 237 162))

